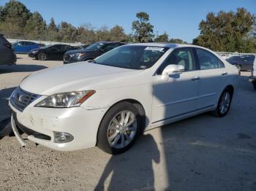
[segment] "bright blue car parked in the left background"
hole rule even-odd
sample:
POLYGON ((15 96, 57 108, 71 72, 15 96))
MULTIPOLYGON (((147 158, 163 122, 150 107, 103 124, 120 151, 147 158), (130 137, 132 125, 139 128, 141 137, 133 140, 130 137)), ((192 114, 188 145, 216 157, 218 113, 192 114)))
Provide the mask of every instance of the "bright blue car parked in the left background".
POLYGON ((29 41, 18 41, 12 44, 15 53, 28 53, 30 50, 41 47, 40 44, 29 41))

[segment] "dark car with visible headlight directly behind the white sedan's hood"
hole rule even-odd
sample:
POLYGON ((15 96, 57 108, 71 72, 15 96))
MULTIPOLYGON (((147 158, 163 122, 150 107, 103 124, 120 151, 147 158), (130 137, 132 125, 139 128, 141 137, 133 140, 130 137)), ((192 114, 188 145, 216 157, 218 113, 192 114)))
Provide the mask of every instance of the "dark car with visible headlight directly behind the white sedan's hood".
POLYGON ((75 63, 80 61, 88 61, 97 58, 116 47, 124 45, 123 42, 96 42, 89 47, 80 50, 68 51, 64 54, 64 64, 75 63))

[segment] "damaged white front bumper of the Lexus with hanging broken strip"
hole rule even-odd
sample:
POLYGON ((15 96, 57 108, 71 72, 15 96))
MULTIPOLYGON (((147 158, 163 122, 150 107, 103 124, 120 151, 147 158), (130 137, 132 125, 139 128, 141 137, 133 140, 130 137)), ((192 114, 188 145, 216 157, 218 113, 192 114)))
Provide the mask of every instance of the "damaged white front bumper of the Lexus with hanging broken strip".
MULTIPOLYGON (((37 144, 60 151, 72 151, 95 147, 99 122, 107 109, 87 110, 83 107, 69 109, 51 109, 28 106, 23 112, 10 104, 15 117, 12 115, 12 129, 20 141, 20 134, 15 128, 31 130, 28 139, 37 144), (20 128, 19 125, 22 127, 20 128), (53 131, 66 132, 74 139, 68 143, 55 143, 53 131), (39 135, 39 136, 38 136, 39 135), (43 136, 42 136, 43 135, 43 136), (41 137, 40 137, 41 136, 41 137), (45 139, 49 137, 50 140, 45 139)), ((24 141, 21 138, 20 144, 24 141)))

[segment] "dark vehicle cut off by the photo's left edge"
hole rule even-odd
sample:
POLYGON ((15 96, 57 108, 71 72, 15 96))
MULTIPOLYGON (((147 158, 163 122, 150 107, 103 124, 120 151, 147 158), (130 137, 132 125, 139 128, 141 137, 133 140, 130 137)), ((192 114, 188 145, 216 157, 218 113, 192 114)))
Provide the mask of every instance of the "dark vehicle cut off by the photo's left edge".
POLYGON ((0 34, 0 64, 12 64, 17 61, 12 44, 0 34))

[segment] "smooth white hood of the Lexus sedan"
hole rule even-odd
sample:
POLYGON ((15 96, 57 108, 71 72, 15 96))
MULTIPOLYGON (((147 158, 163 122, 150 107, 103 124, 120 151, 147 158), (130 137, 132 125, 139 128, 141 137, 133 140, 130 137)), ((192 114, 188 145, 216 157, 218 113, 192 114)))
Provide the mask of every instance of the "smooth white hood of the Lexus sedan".
POLYGON ((23 79, 20 87, 39 95, 75 90, 99 90, 143 83, 143 80, 136 79, 141 72, 143 70, 79 62, 37 71, 23 79))

